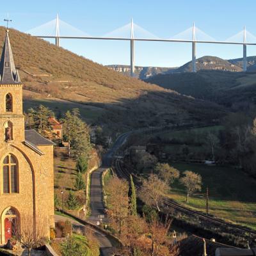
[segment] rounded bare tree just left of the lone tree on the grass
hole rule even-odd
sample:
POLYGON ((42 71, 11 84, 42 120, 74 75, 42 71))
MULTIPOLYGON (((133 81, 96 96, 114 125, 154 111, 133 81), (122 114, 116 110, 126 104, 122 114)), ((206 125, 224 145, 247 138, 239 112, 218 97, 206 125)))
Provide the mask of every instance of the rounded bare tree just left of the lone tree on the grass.
POLYGON ((179 179, 180 172, 168 163, 157 163, 154 171, 159 177, 166 182, 166 184, 172 184, 175 179, 179 179))

